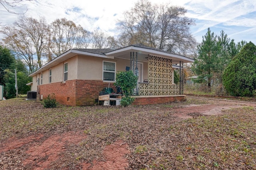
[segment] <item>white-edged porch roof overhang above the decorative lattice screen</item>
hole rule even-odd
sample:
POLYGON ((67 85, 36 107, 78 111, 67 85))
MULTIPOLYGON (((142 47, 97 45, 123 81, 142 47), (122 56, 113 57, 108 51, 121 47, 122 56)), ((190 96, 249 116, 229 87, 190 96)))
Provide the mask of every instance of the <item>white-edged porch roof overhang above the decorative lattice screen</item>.
POLYGON ((151 47, 140 46, 140 45, 130 45, 128 47, 110 51, 105 54, 114 56, 114 57, 118 57, 118 58, 130 59, 131 52, 137 52, 138 61, 147 61, 148 55, 154 55, 154 56, 158 56, 158 57, 170 58, 170 59, 172 59, 172 64, 180 64, 180 61, 183 61, 183 63, 194 62, 193 59, 190 59, 190 58, 182 56, 182 55, 177 55, 177 54, 169 53, 167 51, 163 51, 160 49, 154 49, 151 47))

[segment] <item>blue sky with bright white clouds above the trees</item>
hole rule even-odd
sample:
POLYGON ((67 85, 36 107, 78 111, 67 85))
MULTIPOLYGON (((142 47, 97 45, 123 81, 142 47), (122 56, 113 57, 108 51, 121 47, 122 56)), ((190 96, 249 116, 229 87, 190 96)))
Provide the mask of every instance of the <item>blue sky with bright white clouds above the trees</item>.
MULTIPOLYGON (((198 43, 202 42, 202 36, 209 27, 215 35, 220 35, 223 30, 235 42, 244 40, 256 44, 256 0, 149 1, 184 7, 186 17, 195 20, 191 33, 198 43)), ((138 0, 34 0, 23 1, 14 9, 8 8, 16 13, 27 9, 26 16, 36 19, 45 17, 48 23, 57 18, 67 18, 88 31, 100 29, 115 36, 117 20, 122 20, 123 12, 134 7, 136 2, 138 0)), ((11 14, 0 6, 0 25, 12 24, 17 18, 17 14, 11 14)))

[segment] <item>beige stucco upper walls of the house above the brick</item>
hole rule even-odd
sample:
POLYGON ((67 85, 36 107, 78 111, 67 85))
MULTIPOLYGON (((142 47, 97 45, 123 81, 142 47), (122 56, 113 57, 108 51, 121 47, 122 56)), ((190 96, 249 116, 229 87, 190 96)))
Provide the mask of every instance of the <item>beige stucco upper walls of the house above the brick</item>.
MULTIPOLYGON (((116 63, 116 72, 125 71, 126 66, 130 67, 130 60, 128 59, 104 59, 100 57, 90 57, 76 55, 62 63, 57 64, 50 68, 52 70, 52 82, 62 82, 64 76, 64 63, 68 63, 68 80, 102 80, 103 76, 103 61, 110 61, 116 63)), ((49 83, 49 69, 43 72, 43 84, 49 83)), ((33 76, 32 91, 37 90, 37 78, 40 79, 41 73, 33 76)), ((143 62, 143 79, 148 79, 148 63, 143 62)))

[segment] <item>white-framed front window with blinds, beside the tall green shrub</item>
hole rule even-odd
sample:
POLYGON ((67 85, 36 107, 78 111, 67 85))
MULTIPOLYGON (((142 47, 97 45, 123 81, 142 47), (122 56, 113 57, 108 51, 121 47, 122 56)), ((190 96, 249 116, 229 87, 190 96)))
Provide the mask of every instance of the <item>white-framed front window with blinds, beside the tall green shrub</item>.
POLYGON ((103 80, 115 81, 116 63, 103 61, 103 80))

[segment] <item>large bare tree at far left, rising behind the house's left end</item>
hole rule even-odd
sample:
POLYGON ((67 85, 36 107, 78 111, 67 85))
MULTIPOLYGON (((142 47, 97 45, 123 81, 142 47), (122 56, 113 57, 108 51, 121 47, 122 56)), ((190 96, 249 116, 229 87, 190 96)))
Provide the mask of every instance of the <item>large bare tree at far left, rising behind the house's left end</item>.
POLYGON ((42 66, 42 53, 48 45, 48 30, 45 18, 36 20, 20 16, 12 26, 5 26, 0 32, 5 36, 4 43, 24 59, 31 73, 42 66))

